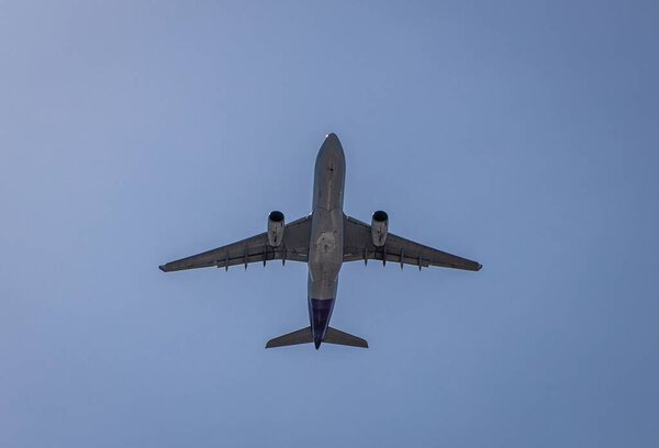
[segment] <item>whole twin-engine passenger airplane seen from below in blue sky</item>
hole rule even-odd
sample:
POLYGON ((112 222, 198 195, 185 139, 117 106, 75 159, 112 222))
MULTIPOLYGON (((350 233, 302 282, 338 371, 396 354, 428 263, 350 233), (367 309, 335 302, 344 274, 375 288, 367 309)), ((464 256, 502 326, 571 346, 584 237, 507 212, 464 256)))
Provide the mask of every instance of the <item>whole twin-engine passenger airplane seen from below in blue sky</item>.
POLYGON ((377 211, 368 225, 344 213, 346 159, 335 134, 328 134, 315 160, 313 206, 311 214, 284 224, 283 213, 268 215, 267 232, 160 266, 164 272, 196 268, 225 268, 253 262, 281 260, 306 262, 310 325, 268 340, 266 348, 322 343, 368 348, 357 336, 330 326, 336 301, 338 272, 344 262, 380 260, 422 268, 478 271, 481 265, 455 255, 414 243, 389 233, 389 216, 377 211))

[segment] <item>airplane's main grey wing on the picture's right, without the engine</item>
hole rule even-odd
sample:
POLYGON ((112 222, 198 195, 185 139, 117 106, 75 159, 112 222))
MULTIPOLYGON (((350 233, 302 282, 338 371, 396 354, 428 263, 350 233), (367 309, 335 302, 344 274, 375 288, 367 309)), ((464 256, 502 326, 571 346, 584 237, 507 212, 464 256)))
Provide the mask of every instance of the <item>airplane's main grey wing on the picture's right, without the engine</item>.
POLYGON ((391 233, 387 235, 383 247, 376 247, 370 225, 350 216, 346 216, 344 222, 344 261, 382 260, 399 262, 401 268, 403 265, 418 266, 418 269, 438 266, 477 271, 481 268, 476 261, 433 249, 391 233))

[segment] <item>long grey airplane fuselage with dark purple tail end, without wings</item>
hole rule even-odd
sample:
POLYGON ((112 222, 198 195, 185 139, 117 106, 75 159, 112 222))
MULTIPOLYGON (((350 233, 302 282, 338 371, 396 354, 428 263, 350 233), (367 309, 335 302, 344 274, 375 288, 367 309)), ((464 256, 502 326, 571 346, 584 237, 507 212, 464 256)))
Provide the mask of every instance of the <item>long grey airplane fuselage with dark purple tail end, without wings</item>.
POLYGON ((343 147, 336 135, 330 134, 315 163, 309 244, 309 318, 316 349, 332 317, 343 264, 345 179, 343 147))

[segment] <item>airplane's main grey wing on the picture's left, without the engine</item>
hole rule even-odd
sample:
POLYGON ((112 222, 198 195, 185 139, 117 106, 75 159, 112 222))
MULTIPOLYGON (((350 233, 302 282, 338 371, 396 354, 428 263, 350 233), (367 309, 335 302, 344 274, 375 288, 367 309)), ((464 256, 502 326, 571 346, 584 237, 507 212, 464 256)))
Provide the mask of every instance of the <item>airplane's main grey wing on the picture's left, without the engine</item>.
POLYGON ((267 260, 306 261, 309 257, 309 238, 311 236, 311 215, 301 217, 286 225, 281 246, 268 245, 268 234, 263 233, 209 251, 181 258, 160 266, 164 272, 197 268, 226 268, 249 262, 267 260))

